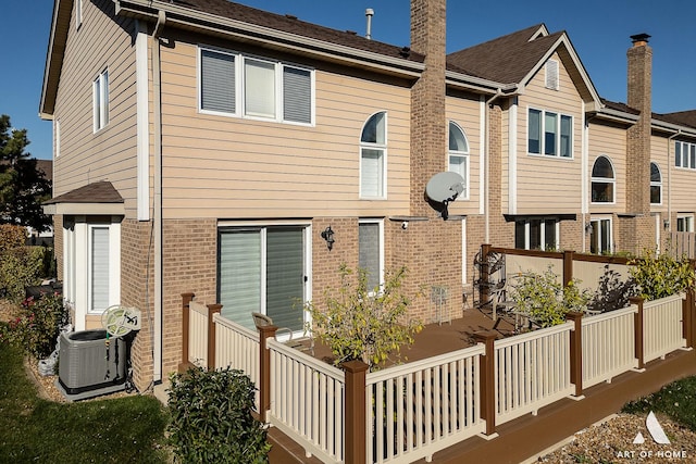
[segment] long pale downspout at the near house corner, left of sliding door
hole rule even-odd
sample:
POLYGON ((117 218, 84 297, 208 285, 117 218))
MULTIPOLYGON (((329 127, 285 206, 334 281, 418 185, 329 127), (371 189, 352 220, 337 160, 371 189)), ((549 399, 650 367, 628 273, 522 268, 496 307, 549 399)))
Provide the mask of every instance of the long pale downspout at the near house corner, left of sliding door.
POLYGON ((160 75, 160 34, 166 23, 166 13, 158 12, 152 32, 152 100, 154 130, 154 211, 152 227, 154 235, 154 328, 152 334, 152 381, 162 381, 162 90, 160 75))

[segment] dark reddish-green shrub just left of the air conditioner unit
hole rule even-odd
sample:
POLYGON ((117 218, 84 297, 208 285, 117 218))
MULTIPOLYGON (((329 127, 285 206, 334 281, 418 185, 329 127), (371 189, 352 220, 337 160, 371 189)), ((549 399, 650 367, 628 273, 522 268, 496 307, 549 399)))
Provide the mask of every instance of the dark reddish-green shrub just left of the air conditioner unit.
POLYGON ((67 323, 63 297, 47 293, 39 299, 27 298, 20 316, 0 326, 0 341, 23 348, 36 359, 47 358, 55 349, 60 328, 67 323))

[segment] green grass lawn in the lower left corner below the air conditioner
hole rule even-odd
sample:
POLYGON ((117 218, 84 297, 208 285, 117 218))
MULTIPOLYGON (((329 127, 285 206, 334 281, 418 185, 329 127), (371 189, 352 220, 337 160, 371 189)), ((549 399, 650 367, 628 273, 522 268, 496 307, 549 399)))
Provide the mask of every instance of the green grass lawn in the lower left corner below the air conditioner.
POLYGON ((42 400, 22 356, 0 343, 0 463, 167 462, 167 413, 156 398, 42 400))

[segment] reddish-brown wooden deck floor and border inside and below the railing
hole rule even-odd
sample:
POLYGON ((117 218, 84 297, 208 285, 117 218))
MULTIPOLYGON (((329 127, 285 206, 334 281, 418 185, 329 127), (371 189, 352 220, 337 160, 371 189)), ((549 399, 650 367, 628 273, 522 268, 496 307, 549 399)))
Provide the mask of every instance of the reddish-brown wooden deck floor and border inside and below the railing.
MULTIPOLYGON (((428 324, 415 336, 415 342, 402 352, 402 361, 418 361, 428 356, 456 351, 474 344, 476 331, 492 330, 494 321, 485 313, 468 309, 463 317, 451 323, 428 324)), ((497 330, 500 337, 512 335, 513 325, 502 321, 497 330)), ((318 358, 323 358, 318 348, 318 358)), ((616 377, 611 384, 600 384, 584 390, 584 399, 564 399, 543 407, 538 415, 525 415, 497 427, 498 437, 486 440, 473 437, 433 456, 437 463, 531 462, 540 453, 571 437, 576 431, 619 412, 625 402, 657 391, 670 381, 696 375, 696 350, 676 351, 666 360, 646 365, 643 373, 629 372, 616 377)), ((304 450, 276 429, 271 429, 273 450, 271 463, 319 463, 306 457, 304 450)), ((626 444, 633 437, 626 437, 626 444)), ((418 462, 425 462, 424 460, 418 462)))

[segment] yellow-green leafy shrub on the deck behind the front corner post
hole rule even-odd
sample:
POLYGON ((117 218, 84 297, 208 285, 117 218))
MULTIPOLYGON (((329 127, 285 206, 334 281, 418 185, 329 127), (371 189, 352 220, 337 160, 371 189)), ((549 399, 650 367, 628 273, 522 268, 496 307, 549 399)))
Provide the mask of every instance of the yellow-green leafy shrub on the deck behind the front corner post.
POLYGON ((398 358, 401 346, 412 344, 413 334, 423 329, 420 321, 408 319, 410 300, 401 290, 406 267, 387 272, 384 286, 374 289, 368 288, 364 269, 358 269, 357 281, 345 264, 339 273, 338 296, 327 291, 325 308, 304 306, 313 334, 331 348, 336 364, 362 360, 374 369, 390 355, 398 358))

